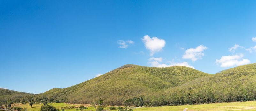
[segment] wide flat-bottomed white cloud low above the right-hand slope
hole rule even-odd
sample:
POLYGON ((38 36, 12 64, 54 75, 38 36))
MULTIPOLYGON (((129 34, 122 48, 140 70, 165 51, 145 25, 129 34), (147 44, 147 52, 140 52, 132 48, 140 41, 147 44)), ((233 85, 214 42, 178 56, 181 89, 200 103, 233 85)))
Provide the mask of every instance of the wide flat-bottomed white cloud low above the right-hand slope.
POLYGON ((243 54, 236 54, 233 56, 222 56, 221 59, 216 59, 217 64, 221 64, 221 67, 231 67, 249 64, 250 60, 242 59, 243 54))

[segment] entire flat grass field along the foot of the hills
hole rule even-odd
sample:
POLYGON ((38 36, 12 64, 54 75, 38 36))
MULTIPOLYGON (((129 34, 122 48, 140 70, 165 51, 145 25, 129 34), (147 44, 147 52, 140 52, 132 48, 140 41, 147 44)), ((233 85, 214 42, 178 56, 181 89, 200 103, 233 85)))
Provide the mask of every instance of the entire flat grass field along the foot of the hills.
MULTIPOLYGON (((49 103, 54 107, 60 109, 65 106, 81 106, 79 104, 66 104, 66 103, 49 103)), ((33 108, 30 108, 28 104, 15 104, 17 107, 27 108, 28 111, 40 111, 42 104, 34 104, 33 108)), ((94 107, 87 106, 87 110, 95 111, 94 107)), ((108 110, 109 107, 104 109, 108 110)), ((200 105, 181 105, 181 106, 161 106, 161 107, 136 107, 134 111, 256 111, 256 101, 247 102, 230 102, 230 103, 212 103, 212 104, 200 104, 200 105), (187 109, 186 109, 187 108, 187 109)), ((76 109, 65 109, 65 111, 76 111, 76 109)), ((117 111, 117 110, 112 110, 117 111)))

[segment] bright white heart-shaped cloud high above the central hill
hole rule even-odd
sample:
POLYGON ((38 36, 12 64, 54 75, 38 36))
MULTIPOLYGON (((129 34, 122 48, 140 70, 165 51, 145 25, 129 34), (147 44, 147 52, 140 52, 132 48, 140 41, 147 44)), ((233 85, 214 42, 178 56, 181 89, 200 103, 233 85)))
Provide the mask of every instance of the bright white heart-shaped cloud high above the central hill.
POLYGON ((157 37, 150 38, 148 35, 145 35, 142 41, 144 42, 146 49, 150 50, 150 56, 153 56, 154 53, 161 51, 165 46, 165 40, 157 37))

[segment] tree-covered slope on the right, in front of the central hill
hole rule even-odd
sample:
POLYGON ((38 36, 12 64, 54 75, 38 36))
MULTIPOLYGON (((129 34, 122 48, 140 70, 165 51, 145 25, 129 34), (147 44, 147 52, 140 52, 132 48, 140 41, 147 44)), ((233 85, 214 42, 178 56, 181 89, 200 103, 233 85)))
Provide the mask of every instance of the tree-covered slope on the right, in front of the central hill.
POLYGON ((256 64, 238 66, 147 96, 151 105, 256 100, 256 64))

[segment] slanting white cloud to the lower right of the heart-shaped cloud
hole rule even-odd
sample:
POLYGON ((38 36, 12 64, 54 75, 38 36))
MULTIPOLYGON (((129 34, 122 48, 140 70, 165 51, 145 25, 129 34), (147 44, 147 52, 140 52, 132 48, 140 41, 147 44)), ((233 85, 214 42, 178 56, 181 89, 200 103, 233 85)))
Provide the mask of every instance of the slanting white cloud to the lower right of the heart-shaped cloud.
POLYGON ((208 49, 206 46, 200 45, 196 48, 187 49, 185 54, 182 56, 183 59, 191 59, 193 62, 204 56, 203 51, 208 49))

